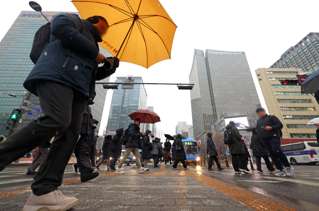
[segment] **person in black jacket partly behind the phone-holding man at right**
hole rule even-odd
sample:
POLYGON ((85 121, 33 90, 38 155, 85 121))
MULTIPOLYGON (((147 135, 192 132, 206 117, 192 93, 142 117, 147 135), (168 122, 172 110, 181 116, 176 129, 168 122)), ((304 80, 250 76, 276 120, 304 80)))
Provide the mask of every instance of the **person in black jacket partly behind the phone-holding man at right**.
POLYGON ((269 160, 269 153, 267 149, 264 147, 262 140, 257 136, 256 130, 253 130, 253 136, 250 143, 250 149, 253 151, 253 156, 256 158, 256 166, 257 172, 263 173, 261 169, 261 158, 264 159, 266 166, 270 172, 273 172, 275 169, 271 165, 271 161, 269 160))

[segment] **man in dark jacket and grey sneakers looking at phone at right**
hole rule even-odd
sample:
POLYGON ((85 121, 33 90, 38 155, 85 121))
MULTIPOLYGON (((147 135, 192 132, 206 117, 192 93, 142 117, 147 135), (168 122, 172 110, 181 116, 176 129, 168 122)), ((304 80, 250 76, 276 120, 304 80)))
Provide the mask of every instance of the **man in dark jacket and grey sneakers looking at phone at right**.
POLYGON ((278 173, 275 174, 275 176, 286 176, 283 172, 283 165, 287 168, 287 176, 292 176, 293 167, 290 167, 288 159, 281 149, 280 131, 284 126, 283 123, 281 123, 277 117, 266 114, 266 110, 264 108, 257 108, 256 113, 259 120, 256 123, 255 130, 258 137, 263 140, 263 144, 278 170, 278 173))

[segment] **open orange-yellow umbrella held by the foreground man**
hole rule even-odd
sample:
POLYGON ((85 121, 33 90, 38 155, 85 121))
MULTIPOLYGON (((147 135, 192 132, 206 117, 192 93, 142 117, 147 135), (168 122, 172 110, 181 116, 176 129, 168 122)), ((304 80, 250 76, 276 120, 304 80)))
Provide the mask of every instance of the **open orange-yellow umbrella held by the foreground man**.
POLYGON ((145 68, 171 58, 176 25, 158 0, 72 0, 81 17, 100 15, 110 28, 100 43, 120 61, 145 68))

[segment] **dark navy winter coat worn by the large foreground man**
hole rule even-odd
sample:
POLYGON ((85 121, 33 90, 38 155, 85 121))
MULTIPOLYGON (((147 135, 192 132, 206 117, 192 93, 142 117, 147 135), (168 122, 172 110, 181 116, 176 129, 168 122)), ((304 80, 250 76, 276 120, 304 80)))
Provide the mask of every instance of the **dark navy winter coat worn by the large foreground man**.
POLYGON ((38 96, 37 81, 49 80, 66 84, 94 98, 95 81, 115 72, 98 67, 95 61, 102 39, 92 23, 78 15, 59 13, 51 19, 51 36, 39 60, 24 81, 24 88, 38 96))

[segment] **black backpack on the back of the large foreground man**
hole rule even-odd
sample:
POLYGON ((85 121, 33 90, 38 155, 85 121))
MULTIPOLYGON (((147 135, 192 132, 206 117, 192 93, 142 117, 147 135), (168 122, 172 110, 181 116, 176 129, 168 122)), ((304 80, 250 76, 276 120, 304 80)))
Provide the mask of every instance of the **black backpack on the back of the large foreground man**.
POLYGON ((30 52, 30 59, 35 64, 40 58, 45 46, 49 44, 51 35, 51 23, 47 23, 35 32, 34 40, 30 52))

